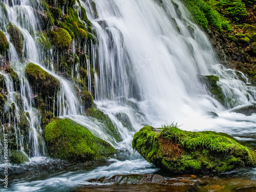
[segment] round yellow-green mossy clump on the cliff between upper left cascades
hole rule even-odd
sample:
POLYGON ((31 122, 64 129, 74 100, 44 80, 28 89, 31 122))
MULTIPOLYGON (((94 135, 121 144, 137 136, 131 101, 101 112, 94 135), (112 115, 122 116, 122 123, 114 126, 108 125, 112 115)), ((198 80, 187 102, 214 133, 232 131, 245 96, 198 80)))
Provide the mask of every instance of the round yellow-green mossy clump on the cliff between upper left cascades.
POLYGON ((57 49, 69 49, 71 40, 69 32, 65 29, 58 28, 54 30, 52 43, 57 49))

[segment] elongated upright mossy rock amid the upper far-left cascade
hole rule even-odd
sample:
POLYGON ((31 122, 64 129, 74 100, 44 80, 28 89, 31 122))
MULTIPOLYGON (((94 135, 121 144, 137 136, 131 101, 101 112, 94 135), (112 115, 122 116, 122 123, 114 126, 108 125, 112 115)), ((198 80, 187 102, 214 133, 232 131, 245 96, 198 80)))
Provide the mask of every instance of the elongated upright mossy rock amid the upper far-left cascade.
POLYGON ((7 32, 10 34, 10 40, 15 47, 17 53, 19 56, 22 56, 22 50, 24 47, 24 37, 22 32, 12 23, 8 23, 7 26, 7 32))

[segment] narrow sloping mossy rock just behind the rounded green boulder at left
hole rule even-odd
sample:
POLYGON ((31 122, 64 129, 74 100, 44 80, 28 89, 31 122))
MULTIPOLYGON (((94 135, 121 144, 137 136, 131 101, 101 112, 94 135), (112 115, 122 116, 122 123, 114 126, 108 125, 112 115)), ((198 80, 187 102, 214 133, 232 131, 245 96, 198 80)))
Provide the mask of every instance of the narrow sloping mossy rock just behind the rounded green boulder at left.
POLYGON ((106 127, 107 127, 106 133, 113 136, 116 139, 116 141, 119 142, 119 141, 122 140, 120 134, 117 132, 115 126, 111 122, 108 115, 106 115, 102 111, 99 111, 99 110, 94 109, 94 108, 89 108, 86 111, 86 114, 90 117, 93 117, 93 118, 97 119, 99 122, 105 124, 106 127))

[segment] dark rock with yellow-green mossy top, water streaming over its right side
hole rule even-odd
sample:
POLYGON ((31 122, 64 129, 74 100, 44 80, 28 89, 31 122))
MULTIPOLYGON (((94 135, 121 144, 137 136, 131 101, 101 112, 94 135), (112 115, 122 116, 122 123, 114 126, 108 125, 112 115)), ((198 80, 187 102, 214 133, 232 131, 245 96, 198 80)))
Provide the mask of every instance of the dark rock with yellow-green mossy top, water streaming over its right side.
POLYGON ((59 80, 42 70, 34 63, 29 63, 25 73, 32 86, 34 94, 41 95, 42 99, 53 98, 60 88, 59 80))

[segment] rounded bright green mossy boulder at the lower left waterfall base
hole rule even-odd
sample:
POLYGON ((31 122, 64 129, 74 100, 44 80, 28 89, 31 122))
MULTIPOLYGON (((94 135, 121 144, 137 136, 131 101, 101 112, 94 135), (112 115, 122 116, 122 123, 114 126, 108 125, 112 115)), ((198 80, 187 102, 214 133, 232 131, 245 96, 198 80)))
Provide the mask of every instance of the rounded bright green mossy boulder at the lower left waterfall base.
POLYGON ((108 142, 70 119, 55 119, 46 126, 45 140, 53 158, 87 161, 104 159, 115 153, 108 142))

